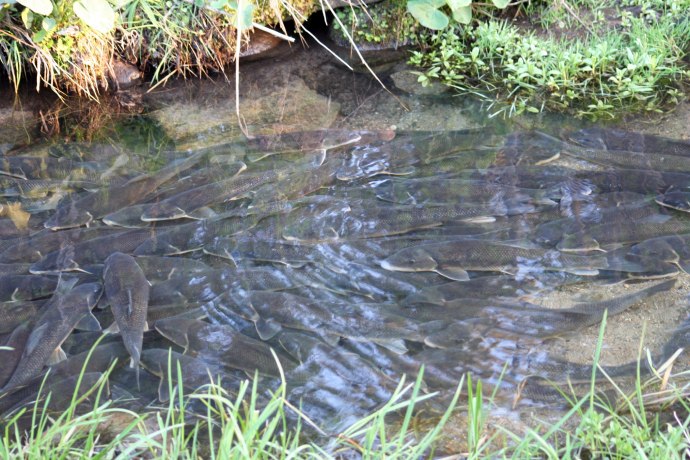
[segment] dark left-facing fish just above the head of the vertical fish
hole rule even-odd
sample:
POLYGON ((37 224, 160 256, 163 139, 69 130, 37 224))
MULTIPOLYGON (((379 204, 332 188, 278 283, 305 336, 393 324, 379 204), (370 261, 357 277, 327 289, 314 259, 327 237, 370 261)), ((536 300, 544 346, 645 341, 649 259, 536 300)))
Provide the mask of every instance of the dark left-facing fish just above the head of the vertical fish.
POLYGON ((133 229, 74 243, 46 254, 29 268, 33 274, 64 271, 85 272, 83 267, 100 264, 113 252, 132 253, 155 235, 154 230, 133 229))

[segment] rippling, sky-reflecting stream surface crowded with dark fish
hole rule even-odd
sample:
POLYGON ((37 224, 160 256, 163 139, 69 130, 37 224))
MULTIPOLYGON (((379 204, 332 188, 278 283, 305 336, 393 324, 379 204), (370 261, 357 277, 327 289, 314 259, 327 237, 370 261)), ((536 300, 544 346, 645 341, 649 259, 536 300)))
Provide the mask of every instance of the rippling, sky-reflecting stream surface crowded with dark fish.
POLYGON ((425 391, 471 372, 506 405, 518 388, 522 404, 555 404, 540 379, 589 366, 544 344, 644 309, 690 264, 681 141, 322 130, 163 151, 153 170, 126 150, 69 151, 0 162, 4 414, 48 368, 48 388, 73 385, 101 328, 87 375, 118 358, 113 394, 141 404, 169 398, 152 382, 171 348, 188 389, 211 375, 231 392, 255 372, 274 388, 275 351, 288 399, 331 429, 422 365, 425 391), (615 283, 624 294, 539 302, 615 283))

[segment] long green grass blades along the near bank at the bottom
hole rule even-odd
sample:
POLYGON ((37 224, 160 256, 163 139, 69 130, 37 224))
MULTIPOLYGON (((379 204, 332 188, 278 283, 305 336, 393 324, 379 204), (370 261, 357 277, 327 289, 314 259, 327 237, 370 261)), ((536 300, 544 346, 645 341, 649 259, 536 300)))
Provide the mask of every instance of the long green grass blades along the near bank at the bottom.
MULTIPOLYGON (((166 459, 322 459, 355 453, 363 458, 387 459, 449 454, 468 458, 687 458, 689 373, 672 375, 671 359, 657 369, 658 378, 651 387, 639 370, 631 392, 611 380, 606 387, 614 389, 619 401, 617 408, 612 407, 599 397, 602 380, 595 379, 597 372, 604 373, 598 361, 605 323, 604 319, 589 391, 577 396, 564 391, 570 410, 560 419, 534 424, 524 433, 492 424, 490 410, 495 394, 485 395, 482 382, 475 383, 469 376, 466 384, 459 383, 444 414, 425 424, 424 433, 415 436, 412 427, 419 403, 436 397, 423 393, 422 373, 410 384, 403 379, 386 404, 340 433, 326 433, 287 402, 284 385, 268 402, 259 404, 262 391, 250 381, 245 381, 236 395, 216 383, 191 393, 169 383, 174 397, 167 406, 134 413, 105 398, 106 373, 94 388, 75 392, 67 410, 57 415, 43 410, 46 399, 7 420, 0 438, 0 457, 131 458, 146 454, 166 459), (654 386, 663 387, 663 391, 654 390, 654 386), (87 400, 91 405, 85 411, 87 400), (27 416, 32 417, 32 428, 24 432, 18 423, 27 416), (445 427, 448 425, 451 436, 457 436, 449 425, 457 417, 467 418, 466 449, 446 452, 445 427), (114 418, 124 421, 117 434, 105 436, 104 426, 114 418)), ((643 358, 641 348, 639 358, 643 358)), ((178 367, 177 378, 167 381, 181 381, 181 377, 178 367)))

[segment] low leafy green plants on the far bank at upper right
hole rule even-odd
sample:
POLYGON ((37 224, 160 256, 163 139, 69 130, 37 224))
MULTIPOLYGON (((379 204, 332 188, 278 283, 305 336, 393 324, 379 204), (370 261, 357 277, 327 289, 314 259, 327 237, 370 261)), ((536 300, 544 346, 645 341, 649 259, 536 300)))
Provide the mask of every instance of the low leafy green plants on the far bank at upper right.
POLYGON ((493 20, 437 34, 411 63, 423 69, 423 84, 440 80, 496 99, 496 111, 511 115, 551 109, 614 118, 681 100, 690 81, 683 62, 690 49, 687 10, 655 21, 628 17, 621 27, 556 39, 493 20))

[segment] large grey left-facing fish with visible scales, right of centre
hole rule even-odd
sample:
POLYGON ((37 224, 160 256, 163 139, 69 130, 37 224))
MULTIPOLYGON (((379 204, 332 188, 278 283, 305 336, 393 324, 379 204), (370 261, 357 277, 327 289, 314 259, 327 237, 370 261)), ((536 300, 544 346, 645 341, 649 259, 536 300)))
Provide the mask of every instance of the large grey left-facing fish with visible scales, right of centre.
POLYGON ((481 240, 457 240, 403 249, 381 267, 391 271, 432 271, 455 281, 469 280, 467 271, 518 272, 556 270, 596 275, 608 262, 600 256, 563 254, 555 250, 524 248, 481 240))

